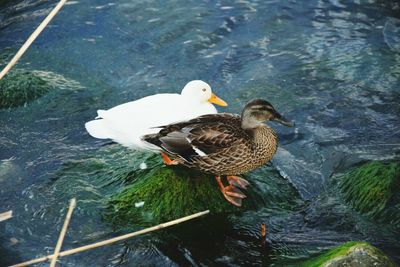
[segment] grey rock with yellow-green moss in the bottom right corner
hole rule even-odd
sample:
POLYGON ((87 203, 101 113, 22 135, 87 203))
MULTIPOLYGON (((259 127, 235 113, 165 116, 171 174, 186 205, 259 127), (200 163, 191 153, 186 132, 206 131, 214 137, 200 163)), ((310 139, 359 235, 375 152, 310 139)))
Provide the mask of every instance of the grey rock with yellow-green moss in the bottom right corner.
POLYGON ((347 242, 304 262, 302 267, 397 266, 382 251, 366 242, 347 242))

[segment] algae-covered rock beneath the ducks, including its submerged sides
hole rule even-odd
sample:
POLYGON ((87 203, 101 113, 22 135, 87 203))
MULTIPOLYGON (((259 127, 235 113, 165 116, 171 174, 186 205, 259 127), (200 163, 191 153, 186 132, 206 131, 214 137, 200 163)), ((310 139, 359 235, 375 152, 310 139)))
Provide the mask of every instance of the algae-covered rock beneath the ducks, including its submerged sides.
MULTIPOLYGON (((288 213, 303 203, 295 188, 272 167, 262 167, 243 178, 251 184, 248 190, 243 190, 247 197, 242 207, 236 207, 225 200, 212 175, 164 166, 157 154, 107 145, 65 161, 53 174, 52 190, 65 196, 65 201, 78 197, 88 213, 96 213, 95 205, 104 221, 116 230, 154 226, 210 210, 209 215, 196 220, 199 221, 196 225, 200 225, 199 229, 212 225, 217 235, 231 229, 232 215, 260 208, 288 213), (143 206, 137 207, 141 202, 143 206)), ((227 184, 225 180, 224 183, 227 184)), ((179 229, 180 235, 187 232, 193 236, 191 227, 179 229)), ((200 239, 202 234, 199 235, 200 239)))

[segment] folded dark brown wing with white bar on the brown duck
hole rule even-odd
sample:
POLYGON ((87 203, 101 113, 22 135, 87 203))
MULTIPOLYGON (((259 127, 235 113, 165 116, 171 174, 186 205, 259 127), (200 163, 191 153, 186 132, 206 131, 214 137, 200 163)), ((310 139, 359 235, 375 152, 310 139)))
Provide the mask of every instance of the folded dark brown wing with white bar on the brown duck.
POLYGON ((238 115, 220 113, 164 126, 158 134, 145 136, 144 140, 191 161, 193 157, 205 157, 244 142, 243 134, 238 115))

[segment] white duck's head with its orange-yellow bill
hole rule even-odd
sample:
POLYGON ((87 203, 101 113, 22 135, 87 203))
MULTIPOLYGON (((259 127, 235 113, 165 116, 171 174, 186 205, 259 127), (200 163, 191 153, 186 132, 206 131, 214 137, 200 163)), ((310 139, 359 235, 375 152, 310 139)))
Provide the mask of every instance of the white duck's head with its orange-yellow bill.
POLYGON ((212 92, 211 87, 206 82, 200 80, 188 82, 182 89, 181 95, 200 103, 210 102, 224 107, 228 105, 212 92))

